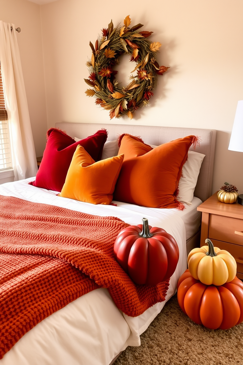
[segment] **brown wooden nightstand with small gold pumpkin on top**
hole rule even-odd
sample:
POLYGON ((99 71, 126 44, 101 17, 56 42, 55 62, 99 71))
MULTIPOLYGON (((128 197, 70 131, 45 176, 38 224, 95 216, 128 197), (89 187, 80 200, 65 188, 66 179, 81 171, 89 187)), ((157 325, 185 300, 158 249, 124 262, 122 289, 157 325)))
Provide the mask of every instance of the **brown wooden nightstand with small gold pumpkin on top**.
POLYGON ((221 203, 215 193, 197 210, 202 212, 200 246, 209 238, 213 246, 230 252, 237 263, 237 277, 243 279, 243 205, 221 203))

